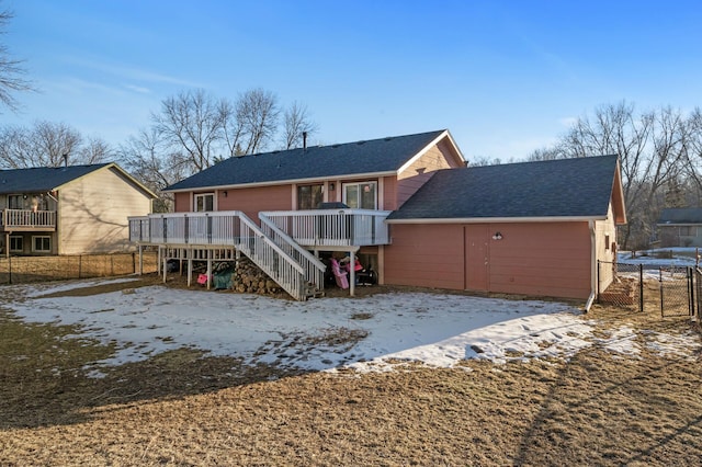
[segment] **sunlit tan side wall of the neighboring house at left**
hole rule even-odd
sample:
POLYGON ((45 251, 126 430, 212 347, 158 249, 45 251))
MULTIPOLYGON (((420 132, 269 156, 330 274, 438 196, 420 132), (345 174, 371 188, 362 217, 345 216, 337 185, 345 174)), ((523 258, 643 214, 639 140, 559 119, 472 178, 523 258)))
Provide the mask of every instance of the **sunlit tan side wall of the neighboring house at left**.
POLYGON ((150 213, 150 198, 114 169, 98 170, 58 194, 58 254, 131 251, 128 216, 150 213))

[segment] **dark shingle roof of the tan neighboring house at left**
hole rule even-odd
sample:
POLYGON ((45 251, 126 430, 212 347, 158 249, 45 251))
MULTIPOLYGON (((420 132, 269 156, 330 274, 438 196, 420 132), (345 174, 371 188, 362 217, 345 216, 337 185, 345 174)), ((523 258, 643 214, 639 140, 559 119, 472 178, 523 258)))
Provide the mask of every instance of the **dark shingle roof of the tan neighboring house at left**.
POLYGON ((109 164, 0 170, 0 194, 48 192, 109 164))

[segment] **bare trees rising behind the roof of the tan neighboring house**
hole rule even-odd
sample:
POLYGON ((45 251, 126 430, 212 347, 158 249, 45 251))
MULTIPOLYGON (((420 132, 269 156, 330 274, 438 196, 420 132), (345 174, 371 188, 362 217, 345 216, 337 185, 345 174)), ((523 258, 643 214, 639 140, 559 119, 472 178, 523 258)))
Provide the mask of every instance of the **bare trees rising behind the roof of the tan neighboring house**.
POLYGON ((2 168, 98 163, 112 157, 112 148, 104 140, 93 137, 84 143, 78 130, 63 123, 38 121, 30 128, 0 127, 2 168))

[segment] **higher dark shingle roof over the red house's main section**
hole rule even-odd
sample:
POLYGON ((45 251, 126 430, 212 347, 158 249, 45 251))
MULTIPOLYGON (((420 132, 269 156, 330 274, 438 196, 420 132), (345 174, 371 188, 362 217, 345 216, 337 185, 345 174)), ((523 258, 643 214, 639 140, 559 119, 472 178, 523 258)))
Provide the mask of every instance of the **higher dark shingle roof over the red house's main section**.
POLYGON ((167 191, 397 171, 443 132, 233 157, 167 191))

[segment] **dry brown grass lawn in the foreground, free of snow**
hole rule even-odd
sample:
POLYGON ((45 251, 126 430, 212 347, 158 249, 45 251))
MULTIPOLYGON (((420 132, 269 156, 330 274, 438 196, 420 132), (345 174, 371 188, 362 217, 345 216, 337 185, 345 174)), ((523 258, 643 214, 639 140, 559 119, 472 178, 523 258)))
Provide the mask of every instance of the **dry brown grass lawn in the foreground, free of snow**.
MULTIPOLYGON (((596 307, 587 318, 671 334, 693 328, 686 318, 615 308, 596 307)), ((83 365, 111 349, 75 333, 0 309, 0 465, 650 466, 702 458, 699 355, 632 357, 595 345, 569 362, 291 374, 181 350, 95 379, 83 365)))

